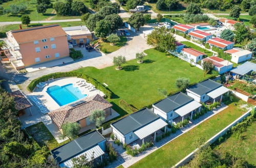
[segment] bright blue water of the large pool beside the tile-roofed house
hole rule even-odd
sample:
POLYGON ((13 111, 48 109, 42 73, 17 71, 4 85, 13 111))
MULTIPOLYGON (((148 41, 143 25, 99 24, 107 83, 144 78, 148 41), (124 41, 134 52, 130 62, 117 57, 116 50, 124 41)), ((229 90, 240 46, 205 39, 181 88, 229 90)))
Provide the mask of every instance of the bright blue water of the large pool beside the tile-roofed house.
POLYGON ((49 87, 46 92, 58 103, 59 106, 69 104, 88 96, 82 94, 80 89, 74 88, 72 83, 62 87, 57 85, 49 87))

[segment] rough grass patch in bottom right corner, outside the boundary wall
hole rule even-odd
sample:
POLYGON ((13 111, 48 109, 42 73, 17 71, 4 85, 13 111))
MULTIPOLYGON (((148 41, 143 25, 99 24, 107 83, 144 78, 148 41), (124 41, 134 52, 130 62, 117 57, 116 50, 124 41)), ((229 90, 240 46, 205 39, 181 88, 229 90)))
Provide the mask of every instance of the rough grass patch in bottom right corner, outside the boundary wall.
POLYGON ((243 139, 238 139, 231 135, 225 142, 216 146, 215 151, 221 154, 229 152, 235 156, 243 156, 245 160, 256 167, 256 122, 247 127, 246 131, 242 133, 243 139))

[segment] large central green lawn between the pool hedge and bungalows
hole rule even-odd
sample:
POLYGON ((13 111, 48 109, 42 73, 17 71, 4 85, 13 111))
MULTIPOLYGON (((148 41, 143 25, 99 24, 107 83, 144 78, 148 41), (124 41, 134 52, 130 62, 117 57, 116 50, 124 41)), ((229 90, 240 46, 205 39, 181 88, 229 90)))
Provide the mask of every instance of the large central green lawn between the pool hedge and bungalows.
POLYGON ((211 76, 204 77, 203 70, 191 67, 177 57, 166 57, 165 53, 155 49, 144 52, 148 55, 143 64, 138 64, 137 60, 128 61, 120 71, 115 70, 115 66, 104 69, 86 67, 76 71, 106 83, 117 95, 110 102, 118 104, 121 98, 138 109, 163 99, 158 89, 164 88, 168 93, 176 92, 175 81, 179 77, 188 77, 191 83, 195 83, 211 76))

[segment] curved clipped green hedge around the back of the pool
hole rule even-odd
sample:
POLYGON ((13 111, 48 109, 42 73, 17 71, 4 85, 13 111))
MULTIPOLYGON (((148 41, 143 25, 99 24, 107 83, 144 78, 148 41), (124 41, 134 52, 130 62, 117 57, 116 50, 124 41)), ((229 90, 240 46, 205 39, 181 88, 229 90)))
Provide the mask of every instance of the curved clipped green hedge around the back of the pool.
POLYGON ((82 74, 82 73, 78 73, 78 72, 57 72, 57 73, 51 73, 48 75, 44 75, 44 76, 41 76, 41 77, 38 77, 38 78, 32 80, 29 83, 29 86, 27 87, 27 89, 28 89, 28 91, 32 92, 39 82, 47 81, 50 78, 55 79, 55 78, 60 78, 60 77, 71 77, 71 76, 76 76, 79 78, 86 79, 87 82, 92 83, 92 85, 94 85, 95 88, 97 88, 98 90, 103 92, 106 95, 106 97, 108 97, 108 98, 113 97, 113 93, 110 90, 106 89, 100 82, 98 82, 97 80, 93 79, 92 77, 90 77, 86 74, 82 74))

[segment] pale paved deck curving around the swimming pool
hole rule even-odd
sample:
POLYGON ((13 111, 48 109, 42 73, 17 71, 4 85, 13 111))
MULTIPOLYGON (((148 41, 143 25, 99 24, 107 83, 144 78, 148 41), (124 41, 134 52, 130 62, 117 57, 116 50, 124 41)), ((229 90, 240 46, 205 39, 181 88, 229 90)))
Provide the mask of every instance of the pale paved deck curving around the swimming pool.
MULTIPOLYGON (((60 106, 58 103, 46 92, 49 87, 58 85, 58 86, 64 86, 68 85, 70 83, 73 83, 76 85, 77 81, 84 80, 82 78, 77 78, 77 77, 67 77, 67 78, 58 78, 51 80, 50 82, 47 82, 48 85, 45 86, 44 88, 36 88, 32 93, 28 94, 28 97, 30 96, 36 96, 44 105, 48 108, 49 111, 58 109, 60 106)), ((85 81, 85 80, 84 80, 85 81)), ((91 83, 87 83, 91 85, 91 83)), ((100 96, 104 96, 104 93, 102 93, 99 90, 95 91, 89 91, 90 89, 87 88, 82 88, 81 92, 82 94, 87 94, 88 96, 93 96, 96 94, 99 94, 100 96)))

